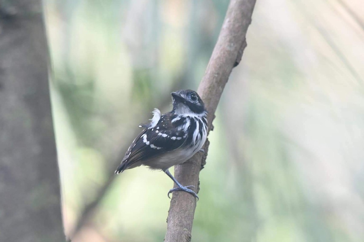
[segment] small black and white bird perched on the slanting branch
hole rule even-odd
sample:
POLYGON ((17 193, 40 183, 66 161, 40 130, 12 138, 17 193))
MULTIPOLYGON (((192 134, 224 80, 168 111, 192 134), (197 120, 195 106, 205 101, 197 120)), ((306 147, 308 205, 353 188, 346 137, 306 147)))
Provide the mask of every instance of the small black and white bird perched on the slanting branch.
POLYGON ((115 174, 140 165, 161 169, 178 187, 168 192, 185 191, 198 199, 190 188, 182 186, 168 171, 201 150, 207 137, 207 111, 199 95, 192 90, 171 93, 173 109, 161 116, 155 108, 151 122, 139 125, 143 131, 128 148, 115 174))

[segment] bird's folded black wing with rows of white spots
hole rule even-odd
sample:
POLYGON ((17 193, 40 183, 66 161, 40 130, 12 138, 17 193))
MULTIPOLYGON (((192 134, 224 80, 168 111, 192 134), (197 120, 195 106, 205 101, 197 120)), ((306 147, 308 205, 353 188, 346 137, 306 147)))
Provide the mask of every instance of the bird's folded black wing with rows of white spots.
POLYGON ((170 118, 169 114, 163 114, 154 127, 144 129, 135 138, 123 161, 116 169, 116 174, 123 172, 137 161, 148 160, 162 153, 173 151, 185 142, 185 132, 175 127, 170 122, 170 118))

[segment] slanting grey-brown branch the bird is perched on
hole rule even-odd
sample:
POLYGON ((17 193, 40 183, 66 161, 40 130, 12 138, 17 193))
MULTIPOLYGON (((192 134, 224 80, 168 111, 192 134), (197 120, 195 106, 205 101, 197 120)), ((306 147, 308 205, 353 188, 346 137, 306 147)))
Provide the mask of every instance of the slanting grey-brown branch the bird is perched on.
MULTIPOLYGON (((217 43, 198 87, 209 115, 207 123, 212 130, 214 113, 222 91, 233 67, 241 60, 246 47, 246 32, 252 20, 256 0, 232 0, 226 12, 217 43)), ((175 166, 174 176, 183 185, 194 185, 199 190, 199 172, 205 164, 209 142, 205 143, 205 155, 201 152, 187 162, 175 166)), ((203 198, 202 198, 203 199, 203 198)), ((170 203, 165 242, 189 242, 196 208, 196 199, 188 193, 176 192, 170 203)))

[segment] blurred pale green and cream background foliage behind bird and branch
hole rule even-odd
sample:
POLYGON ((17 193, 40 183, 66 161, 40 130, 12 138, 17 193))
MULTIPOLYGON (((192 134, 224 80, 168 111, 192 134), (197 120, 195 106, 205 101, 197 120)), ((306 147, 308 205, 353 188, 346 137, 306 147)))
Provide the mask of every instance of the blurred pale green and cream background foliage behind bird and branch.
MULTIPOLYGON (((229 1, 48 0, 66 234, 162 241, 173 184, 119 154, 197 90, 229 1)), ((192 241, 364 241, 364 5, 258 0, 200 174, 192 241)))

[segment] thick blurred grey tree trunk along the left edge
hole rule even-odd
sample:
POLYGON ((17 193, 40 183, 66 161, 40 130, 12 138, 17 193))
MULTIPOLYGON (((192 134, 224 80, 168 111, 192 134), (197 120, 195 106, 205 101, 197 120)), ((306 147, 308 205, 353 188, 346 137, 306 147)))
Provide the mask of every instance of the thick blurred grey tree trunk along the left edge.
POLYGON ((0 0, 0 241, 65 241, 41 0, 0 0))

